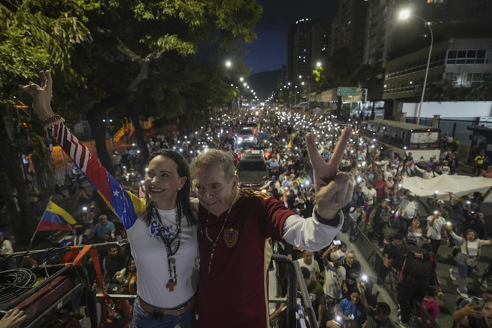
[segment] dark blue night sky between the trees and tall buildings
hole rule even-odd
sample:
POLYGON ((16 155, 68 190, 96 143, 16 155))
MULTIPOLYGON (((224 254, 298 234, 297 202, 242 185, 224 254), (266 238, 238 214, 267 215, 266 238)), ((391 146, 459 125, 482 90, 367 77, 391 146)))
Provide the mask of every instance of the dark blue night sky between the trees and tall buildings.
POLYGON ((302 18, 325 18, 331 21, 337 11, 337 0, 258 0, 263 15, 255 32, 257 40, 247 45, 244 63, 252 74, 280 69, 287 64, 289 26, 302 18))

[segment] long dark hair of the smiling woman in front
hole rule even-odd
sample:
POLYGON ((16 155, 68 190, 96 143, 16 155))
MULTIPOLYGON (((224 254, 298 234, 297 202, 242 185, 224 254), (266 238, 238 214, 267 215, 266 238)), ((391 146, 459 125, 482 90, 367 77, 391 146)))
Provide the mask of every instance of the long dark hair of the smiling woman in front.
MULTIPOLYGON (((186 215, 186 220, 188 220, 188 226, 196 225, 197 219, 194 211, 191 209, 191 204, 190 204, 191 177, 190 177, 190 166, 188 164, 188 161, 186 160, 186 158, 184 158, 183 155, 181 155, 177 151, 168 148, 163 148, 150 154, 149 159, 147 160, 147 166, 149 165, 150 161, 152 161, 157 156, 164 156, 171 159, 173 162, 176 163, 176 169, 178 171, 179 177, 184 177, 184 176, 186 177, 185 184, 183 185, 181 190, 178 190, 177 201, 181 203, 182 214, 186 215)), ((144 220, 147 226, 150 227, 150 224, 152 223, 152 213, 154 211, 154 202, 149 198, 147 194, 145 196, 145 200, 146 200, 145 208, 143 209, 142 213, 140 213, 139 216, 142 217, 142 220, 144 220)))

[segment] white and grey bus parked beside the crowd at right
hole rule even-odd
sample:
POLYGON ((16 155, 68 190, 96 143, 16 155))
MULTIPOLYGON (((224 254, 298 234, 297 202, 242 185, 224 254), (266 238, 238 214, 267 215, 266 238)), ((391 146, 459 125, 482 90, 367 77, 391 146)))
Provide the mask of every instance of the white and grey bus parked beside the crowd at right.
POLYGON ((362 135, 373 139, 394 151, 402 159, 405 154, 412 153, 417 162, 427 162, 431 157, 439 158, 441 129, 423 125, 395 122, 388 120, 365 121, 362 124, 362 135))

